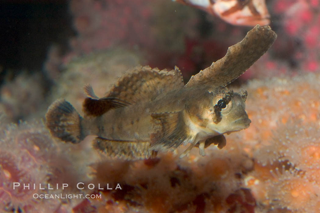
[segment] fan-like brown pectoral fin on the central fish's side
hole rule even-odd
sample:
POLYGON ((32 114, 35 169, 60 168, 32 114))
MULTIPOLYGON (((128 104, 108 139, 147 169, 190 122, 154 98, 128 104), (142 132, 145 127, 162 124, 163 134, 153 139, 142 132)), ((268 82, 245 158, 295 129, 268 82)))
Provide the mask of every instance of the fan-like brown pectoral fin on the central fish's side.
POLYGON ((151 148, 155 150, 176 149, 182 143, 193 142, 194 135, 190 134, 183 119, 183 111, 152 113, 151 116, 158 129, 151 135, 151 148))

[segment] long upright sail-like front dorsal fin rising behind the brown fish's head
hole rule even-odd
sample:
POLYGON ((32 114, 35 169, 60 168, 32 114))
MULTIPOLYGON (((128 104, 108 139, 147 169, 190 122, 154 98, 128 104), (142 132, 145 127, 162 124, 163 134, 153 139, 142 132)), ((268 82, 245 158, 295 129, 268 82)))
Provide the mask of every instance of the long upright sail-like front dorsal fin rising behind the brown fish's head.
POLYGON ((270 26, 256 25, 242 41, 228 48, 227 54, 192 76, 185 87, 223 87, 234 81, 257 61, 276 40, 270 26))

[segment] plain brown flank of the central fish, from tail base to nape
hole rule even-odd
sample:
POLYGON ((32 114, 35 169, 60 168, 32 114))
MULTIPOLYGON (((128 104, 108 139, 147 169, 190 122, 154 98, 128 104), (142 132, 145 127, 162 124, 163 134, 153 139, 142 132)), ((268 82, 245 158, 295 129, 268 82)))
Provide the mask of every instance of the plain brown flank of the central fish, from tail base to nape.
POLYGON ((199 88, 181 88, 160 94, 151 102, 140 102, 125 108, 108 111, 96 118, 88 118, 84 128, 91 135, 124 141, 149 141, 150 135, 158 128, 152 113, 179 112, 198 103, 196 116, 202 118, 203 111, 209 110, 209 92, 199 88))

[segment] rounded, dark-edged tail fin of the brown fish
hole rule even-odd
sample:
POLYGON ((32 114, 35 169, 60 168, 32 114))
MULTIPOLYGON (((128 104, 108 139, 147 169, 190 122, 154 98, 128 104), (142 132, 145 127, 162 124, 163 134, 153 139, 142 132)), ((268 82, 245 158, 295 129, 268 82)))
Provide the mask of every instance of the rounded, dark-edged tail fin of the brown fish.
POLYGON ((46 126, 53 136, 71 143, 79 143, 84 139, 81 125, 83 118, 69 102, 56 100, 49 107, 45 118, 46 126))

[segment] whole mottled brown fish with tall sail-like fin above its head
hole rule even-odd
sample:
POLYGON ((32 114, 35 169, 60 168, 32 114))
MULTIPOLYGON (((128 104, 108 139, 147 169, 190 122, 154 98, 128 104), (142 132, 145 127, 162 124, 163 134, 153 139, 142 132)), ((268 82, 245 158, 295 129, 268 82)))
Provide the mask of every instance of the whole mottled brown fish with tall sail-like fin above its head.
POLYGON ((80 143, 95 135, 92 146, 111 157, 139 160, 189 145, 205 155, 205 148, 226 145, 224 134, 250 126, 245 111, 247 91, 226 86, 242 75, 273 44, 276 33, 256 25, 226 55, 184 84, 178 67, 172 70, 137 66, 128 70, 98 97, 84 86, 84 117, 66 100, 58 99, 45 115, 54 137, 80 143))

